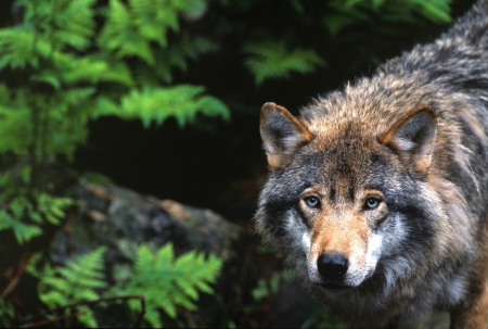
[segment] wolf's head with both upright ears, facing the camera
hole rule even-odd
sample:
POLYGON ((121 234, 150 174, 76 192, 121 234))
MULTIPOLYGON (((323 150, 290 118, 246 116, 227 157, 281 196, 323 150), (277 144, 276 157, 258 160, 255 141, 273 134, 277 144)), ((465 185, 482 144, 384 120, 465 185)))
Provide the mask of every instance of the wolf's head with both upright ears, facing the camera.
POLYGON ((299 121, 266 103, 260 134, 270 174, 257 229, 309 283, 355 289, 387 276, 406 250, 421 256, 435 231, 428 219, 441 212, 435 195, 425 198, 437 137, 432 107, 382 131, 360 117, 299 121))

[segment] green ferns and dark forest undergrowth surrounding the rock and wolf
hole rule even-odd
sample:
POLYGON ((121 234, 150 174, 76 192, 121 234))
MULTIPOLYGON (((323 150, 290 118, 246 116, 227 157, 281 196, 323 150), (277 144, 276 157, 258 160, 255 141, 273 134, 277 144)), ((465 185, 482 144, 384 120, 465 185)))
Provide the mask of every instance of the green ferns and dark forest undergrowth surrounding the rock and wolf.
MULTIPOLYGON (((143 327, 195 325, 179 314, 198 312, 201 295, 216 294, 223 268, 216 255, 177 256, 171 243, 142 243, 131 267, 113 278, 106 248, 62 264, 49 256, 54 232, 78 206, 66 193, 76 179, 213 208, 252 233, 266 173, 260 105, 274 101, 296 113, 311 97, 432 41, 472 2, 2 1, 0 326, 69 318, 98 327, 113 304, 143 327), (255 185, 219 199, 243 181, 255 185), (34 301, 28 307, 22 289, 34 301)), ((262 320, 271 312, 265 306, 293 273, 255 273, 262 275, 242 309, 206 325, 275 325, 262 320)), ((309 314, 304 326, 339 326, 319 309, 309 314)))

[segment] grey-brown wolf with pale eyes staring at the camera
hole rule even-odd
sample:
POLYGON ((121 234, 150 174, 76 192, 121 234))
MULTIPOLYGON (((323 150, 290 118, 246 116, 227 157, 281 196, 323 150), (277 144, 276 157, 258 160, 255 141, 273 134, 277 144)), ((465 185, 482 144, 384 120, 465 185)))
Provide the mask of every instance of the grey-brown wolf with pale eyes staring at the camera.
POLYGON ((488 0, 298 116, 260 113, 256 230, 355 328, 488 324, 488 0))

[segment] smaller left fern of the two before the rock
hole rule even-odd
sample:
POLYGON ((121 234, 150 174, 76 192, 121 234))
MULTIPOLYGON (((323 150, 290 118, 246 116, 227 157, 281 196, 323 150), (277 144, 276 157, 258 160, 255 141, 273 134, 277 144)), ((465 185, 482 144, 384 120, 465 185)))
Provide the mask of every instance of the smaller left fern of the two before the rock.
MULTIPOLYGON (((51 267, 47 265, 39 276, 39 298, 49 307, 54 308, 66 304, 100 299, 99 290, 105 289, 103 255, 105 246, 66 262, 65 266, 51 267)), ((30 268, 31 274, 36 271, 30 268)), ((93 313, 87 306, 80 306, 79 320, 88 327, 97 328, 93 313)))

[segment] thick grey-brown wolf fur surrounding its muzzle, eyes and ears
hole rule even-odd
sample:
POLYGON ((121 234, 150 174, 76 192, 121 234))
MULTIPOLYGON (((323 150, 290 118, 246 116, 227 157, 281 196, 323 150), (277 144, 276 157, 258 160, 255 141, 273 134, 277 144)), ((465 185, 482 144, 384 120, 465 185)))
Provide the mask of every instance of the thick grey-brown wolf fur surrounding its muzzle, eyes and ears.
MULTIPOLYGON (((452 326, 468 326, 486 287, 479 271, 487 257, 487 30, 488 0, 481 0, 435 42, 305 106, 298 119, 314 139, 269 174, 258 232, 311 294, 355 327, 391 325, 426 309, 447 309, 455 315, 452 326), (435 111, 436 137, 428 170, 419 174, 402 160, 404 150, 378 140, 425 106, 435 111), (381 256, 363 283, 333 293, 311 281, 304 235, 312 235, 314 223, 297 204, 316 187, 331 204, 328 225, 341 226, 365 186, 386 195, 387 219, 369 224, 383 237, 381 256)), ((415 148, 401 142, 406 152, 415 148)))

